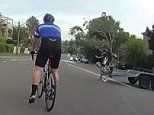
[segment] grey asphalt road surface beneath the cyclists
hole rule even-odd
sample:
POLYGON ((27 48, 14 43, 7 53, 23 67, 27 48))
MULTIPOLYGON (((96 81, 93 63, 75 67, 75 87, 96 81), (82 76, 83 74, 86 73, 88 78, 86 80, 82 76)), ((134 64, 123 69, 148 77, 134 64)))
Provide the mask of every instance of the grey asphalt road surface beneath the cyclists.
POLYGON ((44 99, 28 104, 33 61, 0 61, 0 115, 153 115, 154 92, 126 84, 126 78, 97 81, 89 64, 60 63, 60 85, 54 109, 46 112, 44 99))

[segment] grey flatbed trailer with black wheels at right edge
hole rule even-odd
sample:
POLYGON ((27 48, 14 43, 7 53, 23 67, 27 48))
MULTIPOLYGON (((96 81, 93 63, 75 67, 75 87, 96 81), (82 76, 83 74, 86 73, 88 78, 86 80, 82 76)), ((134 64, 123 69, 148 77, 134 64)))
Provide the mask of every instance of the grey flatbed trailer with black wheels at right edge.
POLYGON ((154 73, 147 69, 129 69, 127 70, 125 77, 128 77, 128 81, 131 84, 139 82, 139 87, 143 89, 154 90, 154 73))

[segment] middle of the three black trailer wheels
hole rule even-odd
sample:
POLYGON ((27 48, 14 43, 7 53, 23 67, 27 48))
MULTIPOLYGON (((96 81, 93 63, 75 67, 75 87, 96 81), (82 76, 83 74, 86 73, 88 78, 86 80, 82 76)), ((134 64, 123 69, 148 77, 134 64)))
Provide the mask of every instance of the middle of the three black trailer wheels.
POLYGON ((139 76, 139 86, 143 89, 148 89, 150 87, 149 76, 141 74, 139 76))

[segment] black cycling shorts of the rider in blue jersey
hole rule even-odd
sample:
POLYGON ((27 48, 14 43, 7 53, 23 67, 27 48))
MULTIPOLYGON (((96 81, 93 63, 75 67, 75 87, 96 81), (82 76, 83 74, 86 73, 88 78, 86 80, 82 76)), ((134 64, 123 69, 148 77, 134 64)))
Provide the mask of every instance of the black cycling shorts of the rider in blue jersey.
POLYGON ((36 57, 35 65, 44 67, 51 56, 51 68, 57 69, 61 57, 61 40, 52 41, 50 39, 41 39, 41 46, 36 57))

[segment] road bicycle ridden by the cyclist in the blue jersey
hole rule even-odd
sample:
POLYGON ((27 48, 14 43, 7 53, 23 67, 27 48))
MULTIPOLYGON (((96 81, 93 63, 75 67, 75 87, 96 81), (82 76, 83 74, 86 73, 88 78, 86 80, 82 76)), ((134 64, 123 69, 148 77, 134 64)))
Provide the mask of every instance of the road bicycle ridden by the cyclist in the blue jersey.
MULTIPOLYGON (((56 86, 54 84, 55 80, 51 71, 52 58, 53 56, 50 56, 47 64, 45 65, 42 78, 37 88, 38 98, 41 98, 43 93, 45 94, 45 105, 47 111, 51 111, 53 109, 56 98, 56 86)), ((32 56, 32 59, 34 60, 34 56, 32 56)))

